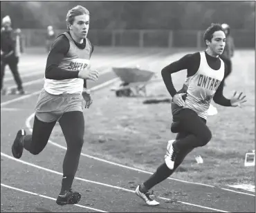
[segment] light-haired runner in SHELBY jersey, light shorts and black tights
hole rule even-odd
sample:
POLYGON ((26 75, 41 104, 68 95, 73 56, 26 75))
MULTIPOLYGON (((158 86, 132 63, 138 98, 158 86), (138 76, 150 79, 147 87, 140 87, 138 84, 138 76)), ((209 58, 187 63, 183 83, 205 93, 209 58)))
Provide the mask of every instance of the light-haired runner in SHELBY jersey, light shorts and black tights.
POLYGON ((57 37, 48 54, 44 88, 35 107, 33 134, 26 134, 21 129, 12 144, 12 154, 17 159, 24 148, 31 154, 39 154, 46 147, 55 123, 60 123, 67 150, 63 161, 62 188, 56 201, 58 205, 75 204, 81 198, 81 194, 73 192, 71 186, 84 143, 82 100, 86 100, 88 108, 91 95, 86 90, 86 79, 98 79, 98 71, 90 69, 93 45, 86 38, 89 11, 76 6, 68 11, 66 18, 68 32, 57 37))

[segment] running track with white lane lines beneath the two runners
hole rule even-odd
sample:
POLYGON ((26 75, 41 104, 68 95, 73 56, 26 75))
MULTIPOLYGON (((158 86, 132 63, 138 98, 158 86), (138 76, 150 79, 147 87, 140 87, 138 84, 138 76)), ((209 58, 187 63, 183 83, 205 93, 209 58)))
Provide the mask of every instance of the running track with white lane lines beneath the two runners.
MULTIPOLYGON (((115 78, 111 66, 140 64, 146 68, 181 57, 168 50, 100 49, 92 63, 102 73, 90 88, 115 78), (135 53, 134 53, 135 52, 135 53)), ((1 212, 255 212, 255 194, 226 186, 213 187, 168 179, 154 187, 157 207, 148 207, 134 190, 148 172, 124 167, 86 155, 86 141, 73 188, 82 193, 79 205, 60 207, 55 203, 62 179, 65 144, 49 141, 38 156, 24 151, 20 160, 11 154, 12 140, 19 128, 33 125, 33 110, 44 77, 45 54, 28 54, 21 59, 20 72, 27 96, 1 97, 1 212)), ((6 72, 5 85, 14 85, 6 72)), ((98 86, 98 88, 97 88, 98 86)), ((88 110, 88 113, 92 108, 88 110)), ((86 113, 86 111, 84 111, 86 113)))

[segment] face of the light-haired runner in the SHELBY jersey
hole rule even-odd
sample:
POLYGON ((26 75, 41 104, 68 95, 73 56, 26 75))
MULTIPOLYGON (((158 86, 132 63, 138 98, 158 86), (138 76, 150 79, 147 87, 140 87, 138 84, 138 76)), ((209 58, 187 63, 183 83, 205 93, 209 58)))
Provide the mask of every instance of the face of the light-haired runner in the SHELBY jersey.
POLYGON ((73 24, 68 24, 69 30, 73 32, 78 40, 86 38, 89 30, 89 21, 89 14, 82 14, 75 17, 73 24))

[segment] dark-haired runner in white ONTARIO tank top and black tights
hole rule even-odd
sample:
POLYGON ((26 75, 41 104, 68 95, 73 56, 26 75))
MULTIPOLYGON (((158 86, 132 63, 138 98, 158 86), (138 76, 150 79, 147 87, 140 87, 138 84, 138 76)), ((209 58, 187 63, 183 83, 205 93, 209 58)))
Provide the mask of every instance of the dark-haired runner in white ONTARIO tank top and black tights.
POLYGON ((173 97, 172 114, 175 125, 172 125, 172 132, 179 134, 176 141, 167 142, 165 163, 135 190, 147 205, 159 204, 150 197, 149 190, 172 175, 194 148, 210 141, 212 134, 205 125, 210 101, 213 99, 219 105, 234 107, 246 101, 241 93, 238 96, 234 94, 231 99, 223 97, 226 69, 219 55, 225 47, 226 37, 221 26, 212 24, 204 34, 204 41, 208 46, 207 50, 187 54, 162 70, 165 86, 173 97), (188 70, 188 75, 183 88, 176 92, 171 74, 180 70, 188 70))

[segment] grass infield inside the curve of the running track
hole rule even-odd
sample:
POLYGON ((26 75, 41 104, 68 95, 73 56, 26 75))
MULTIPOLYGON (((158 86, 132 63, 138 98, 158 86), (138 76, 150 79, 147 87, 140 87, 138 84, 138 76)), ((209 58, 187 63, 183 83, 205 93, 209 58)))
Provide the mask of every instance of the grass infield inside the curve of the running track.
MULTIPOLYGON (((208 118, 212 141, 188 154, 172 177, 212 185, 254 185, 255 168, 244 167, 246 152, 255 149, 254 60, 253 50, 236 52, 224 95, 231 97, 237 90, 244 92, 248 101, 242 108, 224 108, 213 103, 219 113, 208 118), (194 159, 199 154, 203 164, 194 159)), ((155 66, 158 74, 161 68, 155 66)), ((185 70, 174 74, 177 89, 181 88, 185 74, 185 70)), ((170 97, 163 81, 148 85, 147 92, 152 97, 170 97)), ((95 93, 93 99, 91 108, 84 111, 84 152, 154 172, 163 163, 167 140, 176 136, 170 132, 170 103, 145 105, 145 97, 118 98, 109 88, 95 93)), ((52 136, 53 141, 65 143, 59 125, 52 136)))

